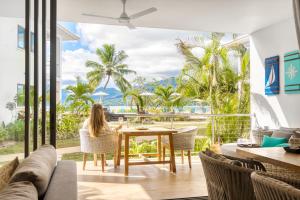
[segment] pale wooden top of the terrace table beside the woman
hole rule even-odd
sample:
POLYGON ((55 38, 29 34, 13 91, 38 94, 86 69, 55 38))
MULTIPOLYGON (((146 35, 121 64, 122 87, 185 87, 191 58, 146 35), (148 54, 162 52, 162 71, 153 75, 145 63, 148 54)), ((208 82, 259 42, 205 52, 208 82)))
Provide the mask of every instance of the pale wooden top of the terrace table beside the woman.
POLYGON ((120 130, 122 134, 143 134, 143 135, 166 135, 170 133, 177 133, 175 129, 168 129, 162 127, 151 127, 149 129, 141 130, 137 128, 122 128, 120 130))

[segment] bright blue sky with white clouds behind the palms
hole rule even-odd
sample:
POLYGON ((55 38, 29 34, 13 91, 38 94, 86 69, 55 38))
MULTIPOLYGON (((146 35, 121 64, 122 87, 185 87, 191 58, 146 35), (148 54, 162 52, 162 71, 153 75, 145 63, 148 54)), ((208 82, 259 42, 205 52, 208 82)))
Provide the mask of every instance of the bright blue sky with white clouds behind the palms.
MULTIPOLYGON (((80 37, 79 41, 63 43, 62 80, 63 87, 76 76, 86 80, 87 60, 100 62, 95 54, 103 44, 115 44, 117 51, 128 55, 125 63, 129 69, 143 76, 147 81, 177 76, 184 65, 184 58, 178 52, 176 43, 193 40, 195 36, 208 33, 196 31, 168 30, 157 28, 136 28, 124 26, 60 22, 60 25, 80 37)), ((128 76, 132 81, 133 76, 128 76)), ((104 81, 101 86, 104 85, 104 81)), ((115 87, 111 81, 108 87, 115 87)))

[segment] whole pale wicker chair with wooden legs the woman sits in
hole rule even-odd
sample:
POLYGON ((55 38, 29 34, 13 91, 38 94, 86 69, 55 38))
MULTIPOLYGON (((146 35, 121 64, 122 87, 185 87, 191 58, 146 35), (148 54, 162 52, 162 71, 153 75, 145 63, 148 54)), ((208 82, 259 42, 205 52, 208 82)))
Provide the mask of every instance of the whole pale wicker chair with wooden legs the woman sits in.
POLYGON ((114 133, 101 134, 98 137, 90 137, 87 129, 80 129, 80 149, 83 152, 83 170, 85 170, 87 155, 94 154, 94 165, 97 165, 97 155, 101 155, 102 172, 106 165, 105 155, 114 154, 114 166, 116 167, 116 135, 114 133))

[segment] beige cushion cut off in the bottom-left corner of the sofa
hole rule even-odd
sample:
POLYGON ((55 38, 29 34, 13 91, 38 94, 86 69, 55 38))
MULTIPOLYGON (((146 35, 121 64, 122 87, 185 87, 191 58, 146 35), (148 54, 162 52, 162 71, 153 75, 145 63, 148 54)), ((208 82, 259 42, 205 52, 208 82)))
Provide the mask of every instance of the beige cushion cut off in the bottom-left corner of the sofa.
POLYGON ((10 183, 0 191, 1 200, 38 200, 34 185, 29 181, 10 183))

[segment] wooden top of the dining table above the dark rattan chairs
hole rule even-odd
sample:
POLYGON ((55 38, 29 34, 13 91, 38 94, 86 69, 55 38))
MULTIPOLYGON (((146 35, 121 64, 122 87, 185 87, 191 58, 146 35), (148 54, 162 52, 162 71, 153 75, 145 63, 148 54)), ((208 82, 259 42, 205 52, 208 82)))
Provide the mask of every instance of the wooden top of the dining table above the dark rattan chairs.
POLYGON ((259 161, 265 161, 280 167, 293 169, 300 172, 300 155, 287 153, 282 147, 270 148, 241 148, 236 149, 236 153, 254 158, 259 161))

